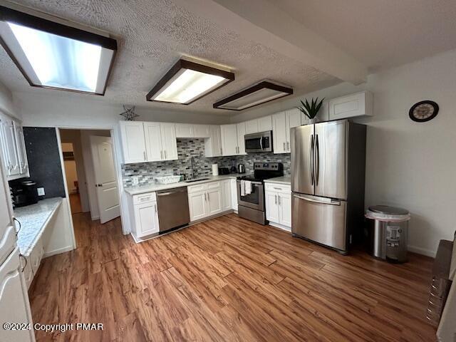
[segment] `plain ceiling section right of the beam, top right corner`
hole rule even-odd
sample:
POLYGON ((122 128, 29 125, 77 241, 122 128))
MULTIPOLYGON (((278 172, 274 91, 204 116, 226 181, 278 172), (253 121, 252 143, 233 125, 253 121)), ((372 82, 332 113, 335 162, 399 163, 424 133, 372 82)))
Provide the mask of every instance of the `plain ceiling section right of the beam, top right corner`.
POLYGON ((370 71, 456 48, 455 0, 281 0, 280 5, 370 71))

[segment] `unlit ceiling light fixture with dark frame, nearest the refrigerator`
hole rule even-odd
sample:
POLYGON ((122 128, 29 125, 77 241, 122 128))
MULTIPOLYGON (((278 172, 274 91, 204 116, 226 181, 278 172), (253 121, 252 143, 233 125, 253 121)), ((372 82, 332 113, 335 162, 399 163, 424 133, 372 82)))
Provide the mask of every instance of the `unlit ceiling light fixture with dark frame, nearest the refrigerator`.
POLYGON ((219 100, 214 103, 213 107, 227 110, 244 110, 254 107, 255 105, 261 105, 262 103, 276 100, 277 98, 283 98, 292 93, 292 88, 279 86, 278 84, 269 81, 261 81, 254 86, 239 91, 239 93, 219 100))

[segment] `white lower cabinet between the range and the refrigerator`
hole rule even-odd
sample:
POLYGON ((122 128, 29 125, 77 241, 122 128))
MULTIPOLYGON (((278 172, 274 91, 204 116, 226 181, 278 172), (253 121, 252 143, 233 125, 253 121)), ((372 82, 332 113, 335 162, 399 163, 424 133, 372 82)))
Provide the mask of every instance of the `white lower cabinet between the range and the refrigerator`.
POLYGON ((265 185, 266 219, 272 225, 291 227, 291 186, 277 183, 265 185))

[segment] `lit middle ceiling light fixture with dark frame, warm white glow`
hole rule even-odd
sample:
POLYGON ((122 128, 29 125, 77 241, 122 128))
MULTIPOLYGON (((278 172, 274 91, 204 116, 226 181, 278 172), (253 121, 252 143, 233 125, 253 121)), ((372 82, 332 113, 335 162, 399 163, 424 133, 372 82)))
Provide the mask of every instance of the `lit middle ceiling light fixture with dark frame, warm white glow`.
POLYGON ((234 81, 234 73, 180 59, 146 95, 147 101, 189 105, 234 81))

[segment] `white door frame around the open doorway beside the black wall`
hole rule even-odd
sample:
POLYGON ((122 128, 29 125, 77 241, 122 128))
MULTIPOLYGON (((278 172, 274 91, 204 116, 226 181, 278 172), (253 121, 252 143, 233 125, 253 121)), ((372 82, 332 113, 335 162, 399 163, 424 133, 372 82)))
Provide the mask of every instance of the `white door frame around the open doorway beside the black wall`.
POLYGON ((123 182, 122 182, 122 168, 120 167, 120 160, 119 156, 122 154, 122 147, 120 146, 120 135, 118 135, 115 130, 115 125, 111 126, 64 126, 58 125, 56 127, 56 135, 57 135, 57 142, 58 142, 58 153, 60 155, 61 160, 61 168, 62 168, 62 175, 63 175, 63 184, 65 185, 65 195, 68 207, 68 214, 71 217, 71 233, 73 238, 73 246, 76 249, 76 238, 74 235, 74 226, 73 226, 73 217, 71 216, 71 207, 70 207, 70 198, 68 194, 68 185, 66 182, 66 174, 65 174, 65 166, 63 164, 63 152, 62 152, 62 145, 61 145, 61 136, 60 130, 109 130, 110 137, 113 140, 113 159, 114 159, 114 167, 115 167, 115 178, 118 184, 118 197, 119 197, 119 207, 120 207, 120 222, 122 226, 122 234, 127 235, 130 234, 130 227, 128 226, 129 216, 126 208, 123 207, 122 202, 122 193, 123 193, 123 182))

